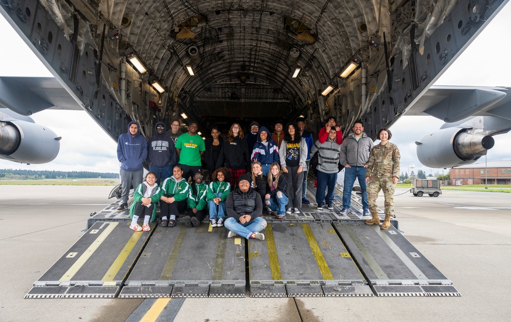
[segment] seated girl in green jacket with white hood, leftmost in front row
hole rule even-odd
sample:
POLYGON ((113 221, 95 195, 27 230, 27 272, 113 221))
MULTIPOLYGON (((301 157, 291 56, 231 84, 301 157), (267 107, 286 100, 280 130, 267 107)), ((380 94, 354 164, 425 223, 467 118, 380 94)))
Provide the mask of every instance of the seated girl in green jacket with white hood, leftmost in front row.
POLYGON ((131 216, 130 229, 139 232, 141 230, 148 232, 151 230, 149 227, 149 219, 151 222, 156 217, 156 207, 154 206, 160 197, 160 188, 156 183, 156 174, 148 172, 146 180, 138 185, 133 195, 133 203, 129 210, 131 216), (142 227, 136 223, 138 217, 144 215, 144 224, 142 227))

